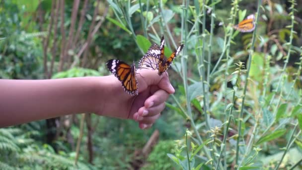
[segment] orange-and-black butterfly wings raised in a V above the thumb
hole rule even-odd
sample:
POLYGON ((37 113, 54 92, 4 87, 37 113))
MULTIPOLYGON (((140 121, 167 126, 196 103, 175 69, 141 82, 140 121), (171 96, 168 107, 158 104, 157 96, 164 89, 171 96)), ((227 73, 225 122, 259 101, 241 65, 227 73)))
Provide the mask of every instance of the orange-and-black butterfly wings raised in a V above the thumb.
POLYGON ((164 37, 161 37, 160 40, 160 56, 158 61, 158 75, 161 76, 164 72, 166 72, 170 65, 172 64, 172 61, 174 58, 179 54, 179 52, 182 50, 184 44, 181 44, 171 55, 168 59, 165 59, 164 57, 164 37))

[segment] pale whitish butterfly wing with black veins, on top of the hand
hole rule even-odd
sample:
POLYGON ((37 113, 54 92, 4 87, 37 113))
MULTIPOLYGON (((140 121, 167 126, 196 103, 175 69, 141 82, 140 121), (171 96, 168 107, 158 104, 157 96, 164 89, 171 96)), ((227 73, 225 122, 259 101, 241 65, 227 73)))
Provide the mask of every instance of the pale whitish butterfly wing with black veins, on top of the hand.
POLYGON ((140 60, 139 68, 157 70, 159 55, 160 55, 160 51, 158 45, 157 44, 151 45, 147 53, 140 60))

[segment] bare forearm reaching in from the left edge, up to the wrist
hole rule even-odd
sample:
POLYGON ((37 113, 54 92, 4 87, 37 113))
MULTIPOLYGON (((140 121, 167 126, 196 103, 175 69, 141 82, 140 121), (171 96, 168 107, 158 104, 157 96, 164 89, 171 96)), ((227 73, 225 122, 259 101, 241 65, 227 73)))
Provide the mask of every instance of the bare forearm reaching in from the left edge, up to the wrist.
POLYGON ((0 80, 0 127, 93 112, 97 79, 0 80))

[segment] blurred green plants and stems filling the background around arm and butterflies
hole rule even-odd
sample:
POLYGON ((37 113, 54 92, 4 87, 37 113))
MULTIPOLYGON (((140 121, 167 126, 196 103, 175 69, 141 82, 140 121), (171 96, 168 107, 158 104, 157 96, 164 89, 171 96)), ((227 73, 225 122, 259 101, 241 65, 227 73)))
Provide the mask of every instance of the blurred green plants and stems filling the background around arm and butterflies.
POLYGON ((102 76, 166 40, 149 130, 91 113, 0 129, 0 169, 302 169, 301 0, 0 0, 0 78, 102 76), (256 27, 232 26, 255 13, 256 27))

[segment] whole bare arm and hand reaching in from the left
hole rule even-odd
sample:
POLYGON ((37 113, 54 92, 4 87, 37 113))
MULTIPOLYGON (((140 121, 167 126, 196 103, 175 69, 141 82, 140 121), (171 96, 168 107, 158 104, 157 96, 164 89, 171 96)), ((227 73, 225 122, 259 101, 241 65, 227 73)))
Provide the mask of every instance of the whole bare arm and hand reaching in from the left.
POLYGON ((134 119, 142 129, 160 116, 174 88, 167 74, 138 70, 139 95, 113 75, 56 80, 0 80, 0 127, 76 113, 134 119))

